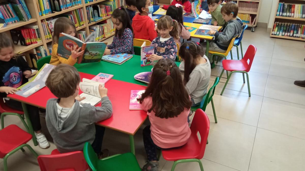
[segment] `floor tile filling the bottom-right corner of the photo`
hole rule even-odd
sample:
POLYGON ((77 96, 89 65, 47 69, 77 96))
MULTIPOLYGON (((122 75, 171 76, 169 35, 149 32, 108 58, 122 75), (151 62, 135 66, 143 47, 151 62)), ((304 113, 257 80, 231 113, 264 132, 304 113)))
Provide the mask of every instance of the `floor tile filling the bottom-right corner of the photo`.
POLYGON ((303 171, 305 140, 257 128, 249 171, 303 171))

